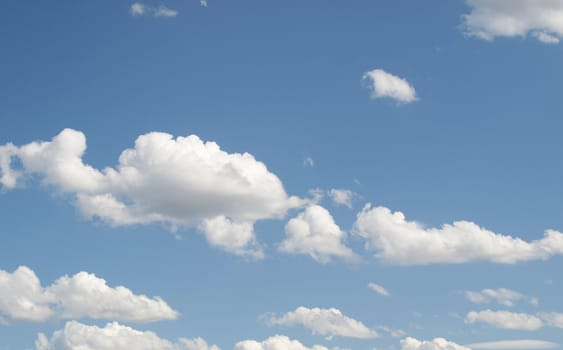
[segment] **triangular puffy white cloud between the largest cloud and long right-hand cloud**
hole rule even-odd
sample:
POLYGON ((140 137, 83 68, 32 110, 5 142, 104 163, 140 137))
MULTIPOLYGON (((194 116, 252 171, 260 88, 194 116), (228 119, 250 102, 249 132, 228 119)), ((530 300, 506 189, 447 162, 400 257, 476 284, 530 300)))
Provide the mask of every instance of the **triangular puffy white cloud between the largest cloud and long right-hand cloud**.
POLYGON ((332 215, 319 205, 311 205, 285 226, 286 239, 280 250, 292 254, 308 254, 321 263, 332 257, 349 262, 358 261, 358 256, 344 241, 346 233, 334 222, 332 215))

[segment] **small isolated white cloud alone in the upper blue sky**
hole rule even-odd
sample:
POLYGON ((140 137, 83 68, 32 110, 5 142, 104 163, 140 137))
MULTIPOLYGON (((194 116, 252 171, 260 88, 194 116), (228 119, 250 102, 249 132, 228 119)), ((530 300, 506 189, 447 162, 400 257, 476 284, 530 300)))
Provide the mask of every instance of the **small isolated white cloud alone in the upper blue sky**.
POLYGON ((389 97, 401 103, 411 103, 418 100, 416 91, 408 81, 383 69, 374 69, 366 72, 362 78, 370 85, 372 98, 389 97))

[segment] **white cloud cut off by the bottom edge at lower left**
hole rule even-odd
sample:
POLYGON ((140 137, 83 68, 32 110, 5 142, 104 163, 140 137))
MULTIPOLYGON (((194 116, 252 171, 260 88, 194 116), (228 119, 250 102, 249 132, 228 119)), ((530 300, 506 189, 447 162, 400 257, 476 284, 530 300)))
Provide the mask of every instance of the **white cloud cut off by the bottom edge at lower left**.
POLYGON ((88 326, 75 321, 67 322, 64 329, 49 339, 39 334, 36 350, 220 350, 209 346, 201 338, 180 338, 173 343, 153 332, 138 331, 116 322, 104 328, 88 326))

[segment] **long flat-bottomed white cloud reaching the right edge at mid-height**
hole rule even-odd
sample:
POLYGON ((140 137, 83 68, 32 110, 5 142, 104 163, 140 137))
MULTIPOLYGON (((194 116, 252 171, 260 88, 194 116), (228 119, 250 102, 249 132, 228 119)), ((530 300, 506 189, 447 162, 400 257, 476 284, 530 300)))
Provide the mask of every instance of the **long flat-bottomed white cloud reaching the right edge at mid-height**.
POLYGON ((399 265, 491 261, 514 264, 563 254, 563 234, 547 230, 540 240, 526 242, 497 234, 469 221, 425 228, 407 221, 401 212, 366 205, 358 214, 353 233, 380 260, 399 265))

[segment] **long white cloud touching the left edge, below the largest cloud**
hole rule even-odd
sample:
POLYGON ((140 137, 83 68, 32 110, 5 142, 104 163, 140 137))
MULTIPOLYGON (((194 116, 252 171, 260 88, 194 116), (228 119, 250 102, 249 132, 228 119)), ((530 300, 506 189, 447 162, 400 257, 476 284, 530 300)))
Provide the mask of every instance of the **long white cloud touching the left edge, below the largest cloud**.
POLYGON ((89 317, 153 322, 178 317, 159 297, 109 287, 105 280, 86 272, 63 276, 44 288, 31 269, 21 266, 13 273, 0 270, 0 286, 0 314, 13 320, 89 317))

